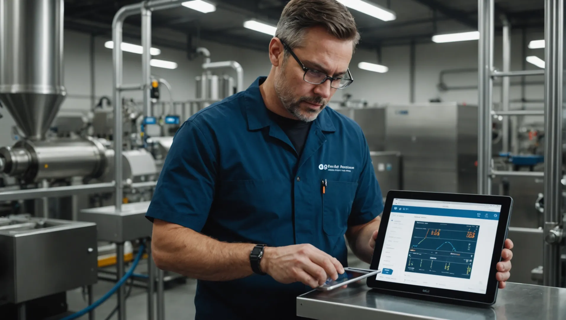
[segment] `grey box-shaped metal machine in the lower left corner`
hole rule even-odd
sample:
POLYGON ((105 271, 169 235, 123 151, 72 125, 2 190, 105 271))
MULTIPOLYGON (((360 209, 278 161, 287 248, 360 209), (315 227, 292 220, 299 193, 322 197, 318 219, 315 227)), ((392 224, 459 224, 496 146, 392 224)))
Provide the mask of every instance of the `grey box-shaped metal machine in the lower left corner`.
MULTIPOLYGON (((0 314, 44 318, 64 310, 38 307, 38 299, 97 281, 96 224, 36 217, 0 218, 0 314), (32 301, 29 305, 26 302, 32 301), (6 304, 7 303, 7 304, 6 304), (2 306, 2 304, 5 304, 2 306), (38 314, 37 309, 47 310, 38 314)), ((52 302, 65 305, 65 300, 52 302)))

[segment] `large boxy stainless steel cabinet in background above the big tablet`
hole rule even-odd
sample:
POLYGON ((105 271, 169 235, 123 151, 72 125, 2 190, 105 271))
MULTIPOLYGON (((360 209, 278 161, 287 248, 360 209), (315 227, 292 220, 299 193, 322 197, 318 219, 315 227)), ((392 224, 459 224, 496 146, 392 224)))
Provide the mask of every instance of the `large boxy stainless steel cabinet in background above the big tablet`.
POLYGON ((386 114, 385 150, 403 155, 405 190, 476 192, 476 106, 388 105, 386 114))

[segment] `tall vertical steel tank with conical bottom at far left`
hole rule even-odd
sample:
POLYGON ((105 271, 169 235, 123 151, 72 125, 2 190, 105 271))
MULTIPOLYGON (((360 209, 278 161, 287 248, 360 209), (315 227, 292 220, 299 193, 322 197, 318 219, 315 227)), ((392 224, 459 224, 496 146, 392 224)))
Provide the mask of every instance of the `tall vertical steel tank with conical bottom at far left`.
POLYGON ((0 103, 37 140, 65 94, 63 0, 0 0, 0 103))

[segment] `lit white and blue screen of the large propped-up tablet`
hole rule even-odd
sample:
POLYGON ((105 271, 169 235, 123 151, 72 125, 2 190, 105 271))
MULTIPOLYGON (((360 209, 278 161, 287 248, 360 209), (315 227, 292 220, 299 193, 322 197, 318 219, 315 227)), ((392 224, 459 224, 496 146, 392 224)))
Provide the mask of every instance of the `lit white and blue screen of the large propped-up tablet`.
POLYGON ((501 205, 393 199, 376 280, 486 293, 501 205))

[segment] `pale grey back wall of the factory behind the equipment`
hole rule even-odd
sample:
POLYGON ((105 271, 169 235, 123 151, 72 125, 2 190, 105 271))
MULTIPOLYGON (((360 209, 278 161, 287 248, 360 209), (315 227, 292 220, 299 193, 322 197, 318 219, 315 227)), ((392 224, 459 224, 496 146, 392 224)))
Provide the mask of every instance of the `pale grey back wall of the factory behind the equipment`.
MULTIPOLYGON (((529 34, 528 41, 542 39, 542 34, 529 34)), ((109 39, 95 38, 95 95, 97 97, 112 95, 112 50, 104 47, 109 39)), ((362 39, 363 40, 363 39, 362 39)), ((65 31, 65 86, 68 97, 63 103, 63 109, 89 109, 91 107, 91 75, 89 46, 90 36, 84 33, 65 31)), ((127 41, 127 40, 126 40, 127 41)), ((513 34, 512 39, 512 70, 522 69, 521 34, 513 34)), ((266 36, 265 46, 269 43, 266 36)), ((495 39, 495 66, 501 66, 501 38, 495 39)), ((202 41, 211 51, 212 61, 235 60, 241 63, 244 70, 246 86, 257 76, 267 75, 270 68, 267 50, 258 52, 234 48, 231 46, 202 41)), ((158 47, 159 48, 159 47, 158 47)), ((160 48, 158 59, 175 61, 179 67, 175 70, 152 68, 152 74, 167 79, 173 87, 175 100, 192 99, 195 96, 194 78, 201 73, 201 59, 188 61, 185 52, 168 48, 160 48)), ((543 49, 527 49, 527 55, 544 58, 543 49)), ((477 103, 477 90, 458 90, 439 92, 436 88, 441 70, 477 68, 478 42, 465 41, 446 44, 422 44, 416 48, 415 68, 415 100, 426 102, 428 99, 440 97, 444 101, 457 101, 468 104, 477 103)), ((378 61, 375 51, 358 49, 350 63, 354 76, 354 84, 344 91, 336 93, 335 99, 340 100, 342 94, 351 93, 357 99, 366 99, 371 104, 379 103, 409 103, 410 69, 409 46, 386 47, 382 50, 382 63, 389 67, 389 72, 378 74, 358 69, 358 62, 378 61)), ((141 55, 124 53, 124 82, 139 83, 141 55)), ((537 67, 527 64, 527 69, 537 67)), ((229 71, 231 72, 231 71, 229 71)), ((513 79, 513 82, 520 79, 513 79)), ((542 76, 529 77, 528 80, 542 80, 542 76)), ((448 75, 446 82, 451 86, 468 86, 477 84, 477 72, 448 75)), ((162 91, 163 99, 168 99, 168 93, 162 91)), ((520 86, 513 86, 511 99, 521 95, 520 86)), ((127 96, 140 99, 139 93, 128 92, 127 96)), ((543 86, 528 86, 527 99, 542 99, 543 86)), ((499 87, 494 89, 494 101, 499 101, 499 87)), ((539 104, 542 105, 542 104, 539 104)), ((515 105, 518 106, 518 105, 515 105)), ((536 105, 534 105, 536 106, 536 105)), ((4 118, 0 119, 0 146, 11 144, 10 127, 13 121, 6 110, 1 111, 4 118)))

